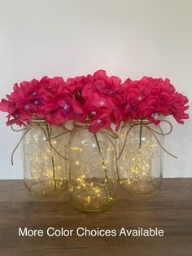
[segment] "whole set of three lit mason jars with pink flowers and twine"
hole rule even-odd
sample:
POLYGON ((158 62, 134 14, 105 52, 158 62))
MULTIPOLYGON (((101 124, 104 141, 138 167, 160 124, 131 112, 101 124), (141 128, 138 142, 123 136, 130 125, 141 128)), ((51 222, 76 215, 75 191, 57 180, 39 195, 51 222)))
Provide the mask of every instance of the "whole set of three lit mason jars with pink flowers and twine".
POLYGON ((163 153, 175 157, 164 148, 163 136, 171 133, 172 124, 162 117, 172 116, 183 124, 189 118, 187 104, 168 79, 122 82, 98 70, 65 81, 42 77, 16 83, 0 102, 0 111, 8 113, 7 126, 13 130, 13 125, 24 126, 17 130, 23 133, 11 163, 22 142, 28 191, 56 195, 68 184, 77 209, 98 211, 115 200, 117 181, 136 195, 158 191, 163 153), (73 121, 73 129, 65 126, 68 121, 73 121), (159 126, 163 121, 170 126, 166 133, 159 126), (122 126, 117 135, 111 125, 119 130, 122 122, 129 126, 122 126))

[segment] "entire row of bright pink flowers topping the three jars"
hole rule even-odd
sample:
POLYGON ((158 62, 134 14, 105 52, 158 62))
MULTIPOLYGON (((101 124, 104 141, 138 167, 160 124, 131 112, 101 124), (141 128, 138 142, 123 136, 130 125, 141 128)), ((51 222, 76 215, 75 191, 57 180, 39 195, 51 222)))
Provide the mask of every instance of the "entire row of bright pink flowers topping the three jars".
POLYGON ((111 123, 118 130, 121 121, 146 119, 158 125, 159 116, 172 116, 183 124, 189 118, 187 103, 168 79, 142 77, 121 82, 119 77, 108 77, 104 70, 98 70, 66 82, 62 77, 42 77, 40 81, 16 83, 11 95, 2 99, 0 110, 8 113, 7 126, 26 126, 36 116, 52 126, 79 121, 96 133, 108 130, 111 123))

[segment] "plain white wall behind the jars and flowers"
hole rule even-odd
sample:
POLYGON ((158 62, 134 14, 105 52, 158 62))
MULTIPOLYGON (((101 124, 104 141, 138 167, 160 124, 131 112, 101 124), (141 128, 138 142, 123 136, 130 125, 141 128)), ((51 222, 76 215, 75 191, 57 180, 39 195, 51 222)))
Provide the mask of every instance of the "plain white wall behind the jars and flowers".
MULTIPOLYGON (((169 77, 191 102, 191 24, 191 0, 0 0, 0 97, 14 82, 104 68, 169 77)), ((0 179, 20 179, 20 149, 10 160, 20 134, 0 120, 0 179)), ((165 141, 178 159, 165 157, 164 176, 192 177, 192 121, 172 123, 165 141)))

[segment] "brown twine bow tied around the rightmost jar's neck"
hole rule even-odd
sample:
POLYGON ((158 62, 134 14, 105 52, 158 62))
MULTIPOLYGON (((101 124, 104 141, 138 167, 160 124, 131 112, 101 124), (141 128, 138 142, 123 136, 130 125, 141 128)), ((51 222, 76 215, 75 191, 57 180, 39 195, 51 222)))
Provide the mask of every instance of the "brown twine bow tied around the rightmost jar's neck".
POLYGON ((162 146, 162 144, 159 142, 159 139, 158 139, 157 135, 166 136, 166 135, 170 135, 171 132, 172 132, 172 124, 171 124, 170 121, 167 121, 167 120, 160 120, 160 121, 161 121, 161 122, 166 122, 166 123, 168 123, 168 125, 170 126, 170 130, 168 130, 168 132, 164 133, 164 132, 159 132, 158 130, 152 129, 150 126, 148 126, 148 125, 151 124, 150 121, 147 121, 147 122, 142 122, 142 121, 141 121, 141 122, 137 122, 137 123, 130 122, 130 124, 129 124, 129 126, 130 126, 130 127, 129 127, 129 130, 127 131, 127 133, 126 133, 126 135, 125 135, 124 144, 123 144, 123 147, 122 147, 122 149, 121 149, 121 151, 120 151, 119 157, 117 157, 117 160, 120 159, 120 157, 121 157, 121 155, 122 155, 122 153, 123 153, 123 151, 124 151, 124 147, 125 147, 125 144, 126 144, 126 141, 127 141, 128 135, 129 135, 129 132, 130 132, 130 131, 133 129, 133 127, 135 127, 135 126, 144 126, 147 130, 150 130, 150 131, 151 131, 151 134, 155 137, 157 143, 159 144, 159 147, 162 148, 162 149, 164 150, 164 152, 168 153, 169 156, 172 156, 172 157, 177 158, 177 157, 174 156, 171 152, 168 152, 168 150, 165 149, 165 148, 162 146))

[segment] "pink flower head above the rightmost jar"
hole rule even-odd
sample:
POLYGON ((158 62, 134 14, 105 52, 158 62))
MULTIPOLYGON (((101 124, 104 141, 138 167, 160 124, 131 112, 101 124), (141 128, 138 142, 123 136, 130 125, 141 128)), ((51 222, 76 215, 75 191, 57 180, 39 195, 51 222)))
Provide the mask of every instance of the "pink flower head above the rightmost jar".
POLYGON ((121 92, 124 102, 124 120, 147 119, 159 123, 155 115, 172 115, 179 123, 189 118, 185 110, 188 99, 178 94, 168 79, 143 77, 139 81, 127 79, 121 92))

